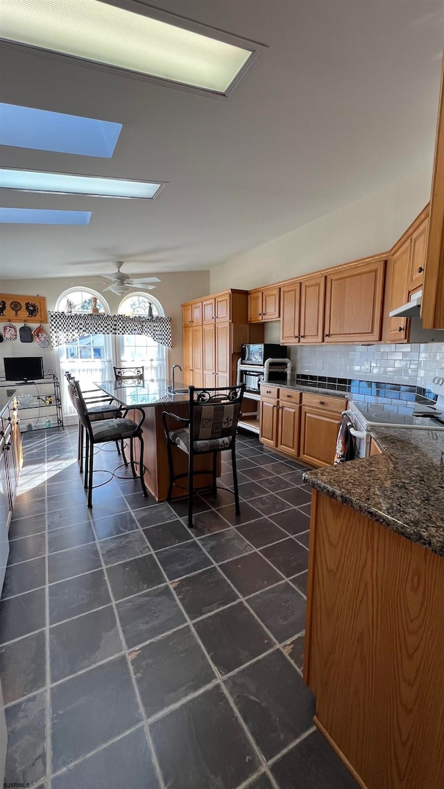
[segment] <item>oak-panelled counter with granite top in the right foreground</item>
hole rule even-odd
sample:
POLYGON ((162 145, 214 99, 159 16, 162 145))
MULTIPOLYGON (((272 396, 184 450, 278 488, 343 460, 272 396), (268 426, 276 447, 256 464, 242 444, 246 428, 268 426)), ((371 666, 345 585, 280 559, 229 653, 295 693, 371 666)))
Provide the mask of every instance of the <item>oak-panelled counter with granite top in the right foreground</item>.
POLYGON ((304 475, 304 680, 363 789, 444 786, 444 432, 378 428, 382 454, 304 475))

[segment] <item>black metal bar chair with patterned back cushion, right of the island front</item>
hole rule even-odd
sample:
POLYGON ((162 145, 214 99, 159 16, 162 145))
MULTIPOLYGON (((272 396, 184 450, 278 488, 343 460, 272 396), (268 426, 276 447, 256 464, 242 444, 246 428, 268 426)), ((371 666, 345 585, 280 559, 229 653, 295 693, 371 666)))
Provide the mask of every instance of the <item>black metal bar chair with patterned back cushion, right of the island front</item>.
POLYGON ((188 387, 190 392, 190 417, 188 419, 169 411, 162 412, 170 471, 167 501, 171 500, 173 485, 176 481, 182 477, 188 477, 188 526, 190 529, 193 527, 194 473, 202 473, 194 471, 196 455, 213 453, 213 484, 210 489, 213 491, 213 495, 216 495, 217 455, 225 450, 231 450, 235 508, 236 514, 240 514, 235 436, 244 389, 244 383, 235 387, 217 389, 188 387), (180 422, 182 427, 171 430, 167 424, 168 418, 180 422), (178 447, 188 455, 187 473, 174 473, 172 447, 178 447))

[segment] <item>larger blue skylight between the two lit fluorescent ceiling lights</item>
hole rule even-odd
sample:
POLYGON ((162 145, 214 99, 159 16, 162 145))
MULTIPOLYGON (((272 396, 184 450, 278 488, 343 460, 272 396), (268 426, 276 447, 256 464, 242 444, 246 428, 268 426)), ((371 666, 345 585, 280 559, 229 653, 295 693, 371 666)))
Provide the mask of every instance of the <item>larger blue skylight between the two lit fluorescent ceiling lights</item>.
POLYGON ((0 145, 111 159, 121 123, 0 103, 0 145))

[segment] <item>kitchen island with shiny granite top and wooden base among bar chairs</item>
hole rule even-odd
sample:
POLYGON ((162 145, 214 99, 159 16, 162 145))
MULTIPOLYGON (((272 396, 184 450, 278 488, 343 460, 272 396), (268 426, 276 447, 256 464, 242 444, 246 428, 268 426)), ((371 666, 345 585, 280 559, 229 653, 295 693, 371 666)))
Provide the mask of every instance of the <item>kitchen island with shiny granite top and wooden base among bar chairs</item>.
MULTIPOLYGON (((102 381, 96 383, 102 391, 120 402, 129 409, 128 417, 138 422, 140 412, 144 413, 142 424, 144 439, 144 466, 145 484, 156 501, 165 501, 169 484, 169 469, 167 458, 167 439, 164 434, 162 412, 169 411, 179 417, 188 417, 189 394, 188 388, 182 383, 175 383, 175 393, 170 391, 172 384, 167 380, 148 381, 122 379, 102 381), (135 410, 137 409, 137 410, 135 410)), ((171 430, 180 427, 179 422, 167 418, 168 428, 171 430)), ((171 447, 175 474, 186 473, 188 469, 188 456, 178 447, 171 447)), ((203 488, 212 483, 213 454, 204 454, 194 457, 194 487, 203 488), (199 473, 201 472, 201 473, 199 473)), ((218 475, 220 465, 218 466, 218 475)), ((182 477, 179 485, 173 487, 173 499, 179 499, 188 492, 188 480, 182 477)))

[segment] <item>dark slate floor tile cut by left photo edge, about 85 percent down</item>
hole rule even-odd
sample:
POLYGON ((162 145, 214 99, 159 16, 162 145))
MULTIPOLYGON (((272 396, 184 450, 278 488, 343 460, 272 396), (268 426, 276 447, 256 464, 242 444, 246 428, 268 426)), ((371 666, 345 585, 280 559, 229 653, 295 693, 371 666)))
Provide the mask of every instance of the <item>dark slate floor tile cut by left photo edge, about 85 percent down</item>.
POLYGON ((4 704, 43 688, 46 683, 44 630, 0 647, 0 681, 4 704))

